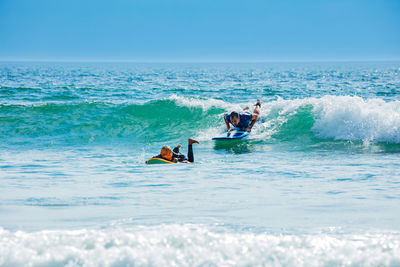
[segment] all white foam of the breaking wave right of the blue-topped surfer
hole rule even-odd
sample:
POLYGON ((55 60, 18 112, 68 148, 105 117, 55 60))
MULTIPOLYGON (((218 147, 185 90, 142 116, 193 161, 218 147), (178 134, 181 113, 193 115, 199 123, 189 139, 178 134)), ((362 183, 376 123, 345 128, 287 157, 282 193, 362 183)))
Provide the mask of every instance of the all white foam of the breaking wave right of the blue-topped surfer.
POLYGON ((364 100, 357 96, 324 96, 265 103, 254 136, 269 138, 296 114, 312 106, 312 132, 322 139, 400 143, 400 101, 364 100))

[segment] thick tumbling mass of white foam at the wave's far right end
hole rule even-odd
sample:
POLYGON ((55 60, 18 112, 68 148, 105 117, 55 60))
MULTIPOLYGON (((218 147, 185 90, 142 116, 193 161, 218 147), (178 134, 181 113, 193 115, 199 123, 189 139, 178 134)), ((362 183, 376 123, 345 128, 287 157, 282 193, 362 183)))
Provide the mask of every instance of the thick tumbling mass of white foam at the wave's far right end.
POLYGON ((325 96, 314 103, 317 137, 400 143, 400 101, 325 96))

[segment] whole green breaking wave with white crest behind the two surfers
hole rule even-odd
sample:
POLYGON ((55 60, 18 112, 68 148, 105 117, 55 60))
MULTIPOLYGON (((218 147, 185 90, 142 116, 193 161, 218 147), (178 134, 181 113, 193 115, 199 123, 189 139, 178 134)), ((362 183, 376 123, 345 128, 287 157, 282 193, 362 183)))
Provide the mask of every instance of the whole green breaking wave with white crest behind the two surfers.
MULTIPOLYGON (((210 140, 225 130, 222 115, 252 103, 181 97, 142 104, 80 102, 0 105, 0 137, 87 143, 128 138, 139 143, 195 136, 210 140), (39 138, 39 139, 38 139, 39 138)), ((324 96, 264 103, 253 129, 257 140, 328 140, 400 143, 400 102, 324 96)))

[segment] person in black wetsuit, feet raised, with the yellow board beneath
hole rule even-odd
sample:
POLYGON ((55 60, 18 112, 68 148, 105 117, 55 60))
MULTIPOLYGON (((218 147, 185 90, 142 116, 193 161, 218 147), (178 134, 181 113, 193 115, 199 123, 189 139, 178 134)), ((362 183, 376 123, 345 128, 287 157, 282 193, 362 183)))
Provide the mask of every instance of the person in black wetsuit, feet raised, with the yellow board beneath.
POLYGON ((179 149, 182 147, 181 145, 177 145, 174 150, 172 150, 169 146, 163 146, 161 148, 161 152, 158 156, 152 157, 146 163, 150 163, 151 160, 161 159, 163 161, 167 161, 167 163, 193 163, 193 144, 199 144, 199 141, 189 138, 188 140, 188 154, 187 157, 179 152, 179 149))

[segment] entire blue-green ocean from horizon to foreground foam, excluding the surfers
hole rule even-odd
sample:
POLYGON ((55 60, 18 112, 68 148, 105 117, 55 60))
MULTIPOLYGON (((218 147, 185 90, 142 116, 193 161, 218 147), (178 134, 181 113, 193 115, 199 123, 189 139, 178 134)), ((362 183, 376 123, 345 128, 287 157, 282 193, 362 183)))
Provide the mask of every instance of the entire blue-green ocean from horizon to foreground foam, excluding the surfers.
POLYGON ((0 63, 0 266, 400 266, 400 62, 0 63))

